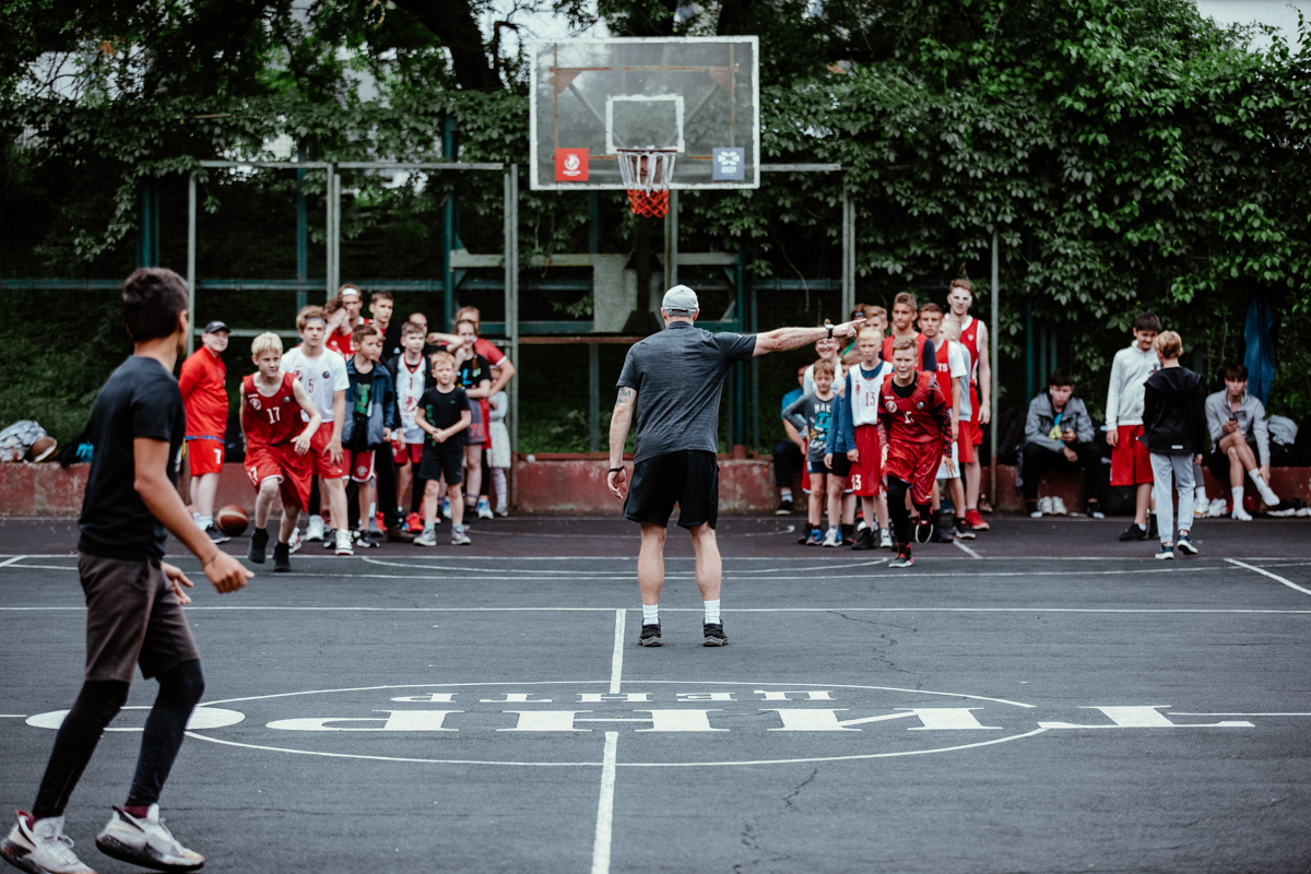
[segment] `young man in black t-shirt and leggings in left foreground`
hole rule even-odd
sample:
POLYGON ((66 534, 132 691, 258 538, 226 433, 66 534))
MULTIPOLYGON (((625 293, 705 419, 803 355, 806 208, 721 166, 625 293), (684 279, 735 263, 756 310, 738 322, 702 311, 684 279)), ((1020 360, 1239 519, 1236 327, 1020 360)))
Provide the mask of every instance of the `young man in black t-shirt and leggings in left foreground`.
POLYGON ((199 853, 180 844, 159 816, 159 798, 191 709, 205 693, 182 591, 191 582, 164 561, 168 532, 194 553, 219 592, 253 575, 219 552, 177 493, 186 421, 173 366, 191 332, 186 283, 147 267, 123 283, 123 314, 135 343, 105 383, 92 411, 96 446, 79 520, 77 573, 87 596, 87 671, 59 726, 31 812, 18 811, 0 857, 26 871, 89 871, 64 833, 64 807, 105 726, 127 701, 132 671, 159 679, 127 803, 115 807, 96 846, 160 870, 195 870, 199 853))

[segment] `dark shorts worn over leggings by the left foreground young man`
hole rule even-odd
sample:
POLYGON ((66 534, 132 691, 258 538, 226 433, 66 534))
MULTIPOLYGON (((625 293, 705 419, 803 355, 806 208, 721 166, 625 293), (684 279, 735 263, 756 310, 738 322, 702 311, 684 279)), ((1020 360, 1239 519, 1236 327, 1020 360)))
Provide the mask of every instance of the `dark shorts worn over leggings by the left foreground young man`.
POLYGON ((164 571, 144 558, 80 553, 87 595, 87 680, 131 683, 201 658, 182 605, 164 571))

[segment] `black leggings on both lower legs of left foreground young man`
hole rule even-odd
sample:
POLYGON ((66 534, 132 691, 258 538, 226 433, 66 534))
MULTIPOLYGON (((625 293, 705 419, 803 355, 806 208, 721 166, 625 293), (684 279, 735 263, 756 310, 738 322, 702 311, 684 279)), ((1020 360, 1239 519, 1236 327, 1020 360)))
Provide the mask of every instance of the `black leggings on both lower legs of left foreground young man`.
MULTIPOLYGON (((186 721, 205 694, 205 676, 199 660, 182 662, 159 675, 160 691, 146 718, 142 734, 142 752, 136 761, 136 774, 127 795, 127 806, 149 806, 159 801, 164 781, 168 780, 173 760, 182 746, 186 721)), ((96 752, 96 744, 127 701, 130 684, 118 680, 88 680, 83 683, 50 753, 46 774, 41 780, 37 803, 31 812, 37 819, 60 816, 68 805, 87 763, 96 752)))

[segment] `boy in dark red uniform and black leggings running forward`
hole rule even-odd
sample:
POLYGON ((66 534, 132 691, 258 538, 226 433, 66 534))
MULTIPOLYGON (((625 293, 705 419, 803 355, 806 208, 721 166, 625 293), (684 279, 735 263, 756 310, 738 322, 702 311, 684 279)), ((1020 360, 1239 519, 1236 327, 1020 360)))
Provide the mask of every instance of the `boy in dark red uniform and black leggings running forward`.
POLYGON ((888 512, 891 515, 897 558, 889 567, 910 567, 910 511, 906 491, 928 524, 937 465, 950 460, 952 410, 937 388, 936 372, 915 372, 915 341, 893 342, 893 376, 878 396, 878 440, 888 477, 888 512))

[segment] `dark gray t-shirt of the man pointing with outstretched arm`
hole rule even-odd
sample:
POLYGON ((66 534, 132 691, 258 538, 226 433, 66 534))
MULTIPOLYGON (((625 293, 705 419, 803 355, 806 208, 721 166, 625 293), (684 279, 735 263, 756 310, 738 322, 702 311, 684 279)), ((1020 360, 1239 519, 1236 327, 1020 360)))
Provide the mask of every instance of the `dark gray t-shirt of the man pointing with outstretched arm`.
POLYGON ((755 334, 712 334, 688 322, 670 322, 635 343, 616 384, 637 392, 633 461, 683 449, 718 452, 724 376, 733 362, 754 354, 755 334))

